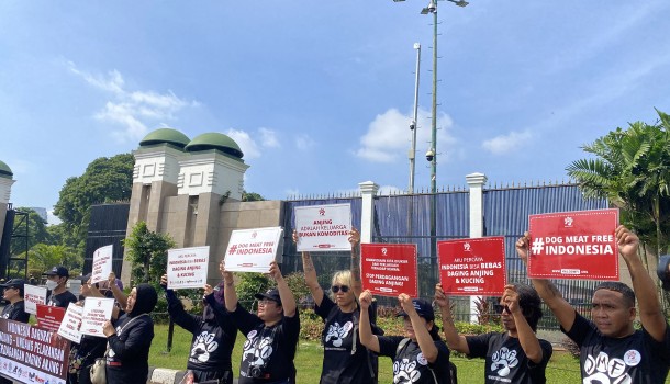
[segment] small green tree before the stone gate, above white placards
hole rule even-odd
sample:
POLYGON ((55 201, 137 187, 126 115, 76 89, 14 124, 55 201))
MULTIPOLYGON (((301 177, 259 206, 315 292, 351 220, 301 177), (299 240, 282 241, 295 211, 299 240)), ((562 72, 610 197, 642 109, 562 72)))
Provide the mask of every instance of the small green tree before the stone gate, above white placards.
POLYGON ((158 285, 167 271, 167 251, 175 248, 175 240, 167 234, 149 230, 145 222, 139 222, 123 240, 123 246, 133 263, 133 281, 158 285))

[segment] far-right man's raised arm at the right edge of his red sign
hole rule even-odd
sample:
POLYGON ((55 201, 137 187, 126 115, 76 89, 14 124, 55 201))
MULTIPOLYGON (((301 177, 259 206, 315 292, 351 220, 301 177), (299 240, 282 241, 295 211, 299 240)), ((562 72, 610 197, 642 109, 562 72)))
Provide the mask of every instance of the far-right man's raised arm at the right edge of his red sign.
POLYGON ((651 335, 654 340, 662 341, 666 335, 666 318, 661 312, 656 285, 643 266, 637 255, 639 239, 628 228, 619 225, 616 228, 616 241, 633 281, 633 291, 639 306, 639 318, 643 327, 651 335))

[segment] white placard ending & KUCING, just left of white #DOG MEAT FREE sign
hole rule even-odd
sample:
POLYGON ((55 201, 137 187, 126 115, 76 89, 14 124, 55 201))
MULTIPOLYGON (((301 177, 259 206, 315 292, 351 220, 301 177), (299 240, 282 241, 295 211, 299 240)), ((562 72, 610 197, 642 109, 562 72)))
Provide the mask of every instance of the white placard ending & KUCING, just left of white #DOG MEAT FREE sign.
POLYGON ((210 246, 168 250, 168 289, 201 289, 208 281, 210 246))

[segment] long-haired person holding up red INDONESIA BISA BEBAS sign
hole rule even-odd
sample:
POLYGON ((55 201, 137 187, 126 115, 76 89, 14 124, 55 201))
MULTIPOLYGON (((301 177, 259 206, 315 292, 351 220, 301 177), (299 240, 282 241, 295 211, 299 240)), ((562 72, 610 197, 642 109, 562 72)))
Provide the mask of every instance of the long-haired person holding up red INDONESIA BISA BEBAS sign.
POLYGON ((546 383, 545 369, 551 358, 551 343, 538 339, 537 323, 543 316, 537 292, 526 284, 505 285, 495 312, 501 316, 504 332, 480 336, 458 335, 451 318, 449 297, 435 286, 435 302, 439 306, 449 349, 469 358, 485 359, 484 383, 546 383))

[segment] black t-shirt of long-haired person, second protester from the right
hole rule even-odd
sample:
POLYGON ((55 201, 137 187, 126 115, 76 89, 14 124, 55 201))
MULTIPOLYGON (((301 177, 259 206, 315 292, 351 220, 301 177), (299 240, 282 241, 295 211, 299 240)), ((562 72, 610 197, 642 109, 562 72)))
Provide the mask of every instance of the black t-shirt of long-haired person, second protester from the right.
POLYGON ((543 360, 539 364, 535 364, 524 353, 518 339, 510 337, 506 332, 468 336, 466 340, 470 349, 469 358, 487 359, 484 383, 544 384, 547 382, 545 369, 554 352, 549 341, 539 339, 543 360))

